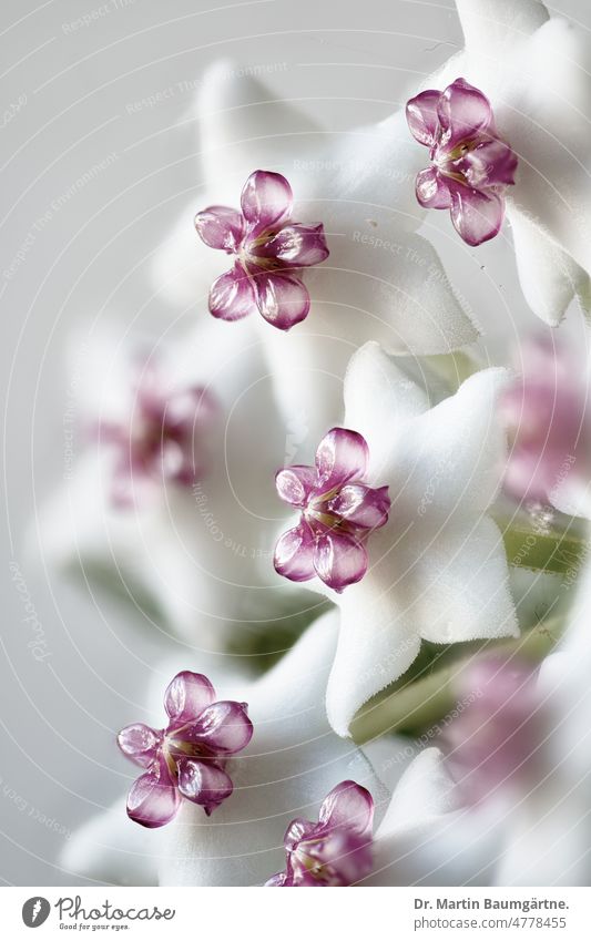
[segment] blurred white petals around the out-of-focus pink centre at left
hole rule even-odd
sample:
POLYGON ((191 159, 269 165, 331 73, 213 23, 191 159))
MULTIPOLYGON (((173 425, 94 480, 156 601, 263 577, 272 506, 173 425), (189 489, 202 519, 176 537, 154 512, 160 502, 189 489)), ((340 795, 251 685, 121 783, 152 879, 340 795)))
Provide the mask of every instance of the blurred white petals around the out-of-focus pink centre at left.
POLYGON ((294 612, 303 627, 315 605, 303 605, 300 586, 278 583, 273 569, 278 521, 288 515, 273 477, 278 456, 291 449, 252 321, 226 330, 205 317, 179 339, 153 339, 159 382, 166 389, 206 390, 216 412, 205 436, 201 426, 191 431, 194 466, 205 473, 190 487, 171 485, 156 456, 157 477, 137 478, 134 467, 133 480, 124 478, 134 498, 126 512, 113 504, 112 481, 128 444, 104 441, 102 433, 89 444, 85 434, 99 417, 103 427, 129 436, 130 415, 137 411, 137 397, 130 403, 135 347, 120 330, 125 333, 118 321, 111 331, 96 328, 84 338, 77 395, 68 401, 71 463, 31 528, 34 560, 41 556, 53 574, 78 577, 85 590, 90 584, 99 599, 109 593, 123 600, 130 622, 139 608, 157 630, 202 652, 227 651, 235 642, 249 651, 257 637, 287 625, 294 612), (144 494, 150 499, 140 499, 144 494))

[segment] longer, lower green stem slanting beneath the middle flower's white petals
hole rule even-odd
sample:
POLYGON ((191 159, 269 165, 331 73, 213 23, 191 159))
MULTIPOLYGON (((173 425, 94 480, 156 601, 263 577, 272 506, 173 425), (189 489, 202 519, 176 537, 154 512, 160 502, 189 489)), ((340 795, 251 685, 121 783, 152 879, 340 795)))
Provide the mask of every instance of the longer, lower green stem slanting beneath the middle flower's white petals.
MULTIPOLYGON (((540 622, 516 640, 480 643, 477 652, 455 659, 428 675, 409 682, 401 677, 386 695, 367 703, 351 724, 351 736, 363 745, 387 733, 435 738, 458 702, 458 676, 476 656, 500 654, 507 658, 539 664, 552 651, 564 631, 565 621, 557 615, 540 622)), ((456 645, 457 647, 458 645, 456 645)))

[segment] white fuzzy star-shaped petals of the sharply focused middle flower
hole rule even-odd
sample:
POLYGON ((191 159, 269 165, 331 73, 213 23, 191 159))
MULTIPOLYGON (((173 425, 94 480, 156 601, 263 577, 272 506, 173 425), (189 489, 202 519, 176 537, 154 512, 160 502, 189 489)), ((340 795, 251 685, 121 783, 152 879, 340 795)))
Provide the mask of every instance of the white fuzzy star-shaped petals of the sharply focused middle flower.
POLYGON ((383 524, 367 540, 359 582, 336 596, 320 579, 307 582, 340 610, 327 689, 339 735, 408 669, 421 638, 450 644, 518 632, 503 542, 489 515, 506 458, 497 415, 506 382, 505 370, 482 370, 429 408, 425 391, 377 344, 351 358, 344 426, 367 442, 364 485, 381 494, 387 487, 391 511, 386 522, 387 507, 368 501, 368 521, 383 524))

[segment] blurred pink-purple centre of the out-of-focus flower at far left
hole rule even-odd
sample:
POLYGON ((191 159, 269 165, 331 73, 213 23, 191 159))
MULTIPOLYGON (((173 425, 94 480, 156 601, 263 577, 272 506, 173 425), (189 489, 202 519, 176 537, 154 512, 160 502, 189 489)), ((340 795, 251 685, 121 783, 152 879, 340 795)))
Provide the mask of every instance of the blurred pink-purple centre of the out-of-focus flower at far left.
POLYGON ((126 412, 95 423, 100 447, 113 456, 113 503, 133 505, 163 481, 195 483, 206 472, 216 417, 216 401, 203 386, 169 389, 155 364, 137 367, 126 412))

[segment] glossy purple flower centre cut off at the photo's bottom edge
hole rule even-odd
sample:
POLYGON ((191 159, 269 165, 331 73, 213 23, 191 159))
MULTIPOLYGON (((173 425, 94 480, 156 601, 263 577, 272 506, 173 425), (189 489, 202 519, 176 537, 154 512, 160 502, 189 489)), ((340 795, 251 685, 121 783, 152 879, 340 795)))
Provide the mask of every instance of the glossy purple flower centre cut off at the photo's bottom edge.
POLYGON ((283 841, 286 866, 266 886, 350 886, 371 869, 374 798, 355 781, 326 795, 318 822, 292 820, 283 841))

